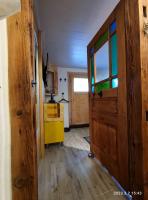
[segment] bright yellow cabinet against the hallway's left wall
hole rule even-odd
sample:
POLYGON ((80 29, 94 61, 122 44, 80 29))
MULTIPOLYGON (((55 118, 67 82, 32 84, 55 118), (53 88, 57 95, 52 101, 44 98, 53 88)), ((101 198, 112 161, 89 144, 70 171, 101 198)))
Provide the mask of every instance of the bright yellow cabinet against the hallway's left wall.
POLYGON ((45 144, 64 142, 64 105, 44 104, 45 144))

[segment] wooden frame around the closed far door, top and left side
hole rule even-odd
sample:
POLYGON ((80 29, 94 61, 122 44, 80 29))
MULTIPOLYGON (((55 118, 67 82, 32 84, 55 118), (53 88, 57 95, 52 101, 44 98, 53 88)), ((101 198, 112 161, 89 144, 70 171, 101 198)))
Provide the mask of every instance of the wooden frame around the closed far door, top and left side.
POLYGON ((69 125, 72 125, 72 92, 73 92, 73 87, 72 87, 72 79, 74 77, 86 77, 88 78, 88 73, 87 72, 68 72, 68 98, 69 98, 69 125))

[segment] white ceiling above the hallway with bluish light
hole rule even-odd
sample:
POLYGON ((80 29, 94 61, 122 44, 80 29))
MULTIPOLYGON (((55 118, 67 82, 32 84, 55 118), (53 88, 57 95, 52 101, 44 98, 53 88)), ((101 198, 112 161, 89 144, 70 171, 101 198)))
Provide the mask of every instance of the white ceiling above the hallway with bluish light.
POLYGON ((87 67, 87 45, 119 0, 39 0, 44 55, 59 67, 87 67))

